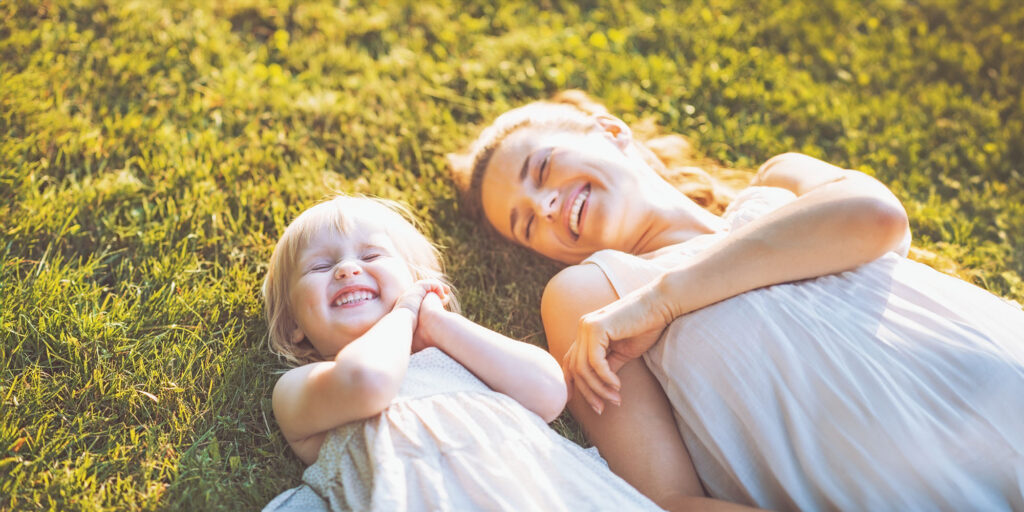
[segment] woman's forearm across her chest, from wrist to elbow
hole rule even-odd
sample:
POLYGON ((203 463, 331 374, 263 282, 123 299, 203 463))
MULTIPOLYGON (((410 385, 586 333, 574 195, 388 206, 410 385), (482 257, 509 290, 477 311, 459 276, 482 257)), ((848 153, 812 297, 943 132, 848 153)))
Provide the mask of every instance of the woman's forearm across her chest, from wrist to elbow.
POLYGON ((856 174, 823 183, 742 226, 668 271, 648 292, 664 298, 675 317, 750 290, 881 257, 903 240, 906 213, 879 190, 880 183, 856 174))

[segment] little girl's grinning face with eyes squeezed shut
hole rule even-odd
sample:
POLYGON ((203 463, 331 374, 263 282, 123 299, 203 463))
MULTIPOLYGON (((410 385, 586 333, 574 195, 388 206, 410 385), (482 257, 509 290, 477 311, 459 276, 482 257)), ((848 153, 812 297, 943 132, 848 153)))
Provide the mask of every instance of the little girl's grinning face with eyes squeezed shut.
POLYGON ((404 258, 383 229, 369 222, 347 233, 325 229, 296 259, 289 300, 296 330, 325 357, 362 336, 413 286, 404 258))

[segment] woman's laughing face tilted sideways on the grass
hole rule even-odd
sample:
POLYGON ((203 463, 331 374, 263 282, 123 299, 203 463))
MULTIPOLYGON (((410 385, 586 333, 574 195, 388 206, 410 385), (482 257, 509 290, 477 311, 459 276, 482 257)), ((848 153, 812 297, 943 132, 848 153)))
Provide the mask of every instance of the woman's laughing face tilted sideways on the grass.
POLYGON ((565 263, 601 249, 629 252, 642 234, 637 166, 646 165, 630 156, 630 142, 625 125, 516 131, 483 174, 483 214, 507 239, 565 263))

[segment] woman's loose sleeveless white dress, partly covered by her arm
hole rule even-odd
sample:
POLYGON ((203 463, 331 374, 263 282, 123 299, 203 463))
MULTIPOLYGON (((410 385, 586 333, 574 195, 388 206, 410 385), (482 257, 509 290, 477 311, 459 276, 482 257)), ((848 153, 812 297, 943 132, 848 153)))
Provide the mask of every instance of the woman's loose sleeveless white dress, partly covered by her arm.
MULTIPOLYGON (((794 199, 744 190, 732 228, 794 199)), ((601 251, 622 296, 724 233, 601 251)), ((780 510, 1024 510, 1024 311, 889 253, 674 321, 644 355, 710 496, 780 510)))

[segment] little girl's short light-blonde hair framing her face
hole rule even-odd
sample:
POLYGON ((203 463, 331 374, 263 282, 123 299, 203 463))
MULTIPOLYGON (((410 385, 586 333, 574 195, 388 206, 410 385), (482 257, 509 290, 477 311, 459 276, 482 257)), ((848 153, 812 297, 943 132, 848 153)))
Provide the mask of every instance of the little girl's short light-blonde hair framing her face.
MULTIPOLYGON (((270 350, 288 362, 299 366, 323 356, 309 340, 293 343, 295 315, 289 301, 291 272, 310 239, 325 230, 348 233, 359 222, 374 222, 391 239, 416 280, 435 279, 449 284, 437 248, 418 228, 416 217, 403 205, 378 198, 336 196, 304 212, 285 228, 270 255, 263 279, 263 300, 270 350)), ((450 285, 450 284, 449 284, 450 285)), ((450 285, 451 286, 451 285, 450 285)), ((459 311, 454 294, 447 308, 459 311)))

